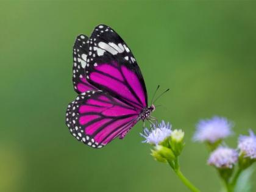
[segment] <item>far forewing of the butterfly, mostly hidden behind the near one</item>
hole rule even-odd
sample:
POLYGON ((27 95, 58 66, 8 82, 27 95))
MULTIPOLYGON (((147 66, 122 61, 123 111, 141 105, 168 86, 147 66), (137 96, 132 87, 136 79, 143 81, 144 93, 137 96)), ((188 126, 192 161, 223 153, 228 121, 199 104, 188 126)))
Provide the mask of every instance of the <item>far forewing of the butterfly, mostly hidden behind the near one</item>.
POLYGON ((78 35, 73 46, 73 84, 74 90, 80 94, 95 89, 85 78, 89 40, 86 35, 78 35))

